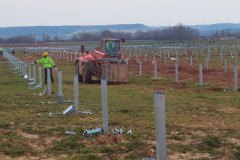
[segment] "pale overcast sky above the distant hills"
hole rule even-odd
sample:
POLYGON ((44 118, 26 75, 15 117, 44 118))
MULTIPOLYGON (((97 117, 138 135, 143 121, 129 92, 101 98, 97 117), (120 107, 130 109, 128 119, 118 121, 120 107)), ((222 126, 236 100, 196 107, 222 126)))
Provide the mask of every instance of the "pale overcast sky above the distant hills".
POLYGON ((0 0, 0 27, 240 23, 240 0, 0 0))

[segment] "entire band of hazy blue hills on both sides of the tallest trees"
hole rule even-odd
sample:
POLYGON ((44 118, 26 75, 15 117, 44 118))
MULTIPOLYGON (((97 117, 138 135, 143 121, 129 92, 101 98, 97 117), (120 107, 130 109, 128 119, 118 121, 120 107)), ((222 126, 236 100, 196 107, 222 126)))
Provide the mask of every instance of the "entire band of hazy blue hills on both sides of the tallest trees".
MULTIPOLYGON (((153 30, 162 29, 168 26, 150 27, 144 24, 116 24, 116 25, 89 25, 89 26, 29 26, 29 27, 0 27, 0 37, 12 37, 17 35, 34 35, 38 39, 42 39, 43 34, 50 37, 58 36, 59 38, 70 38, 73 34, 83 31, 137 31, 137 30, 153 30)), ((211 25, 190 25, 194 29, 198 29, 200 34, 209 35, 217 30, 240 31, 240 24, 219 23, 211 25)))

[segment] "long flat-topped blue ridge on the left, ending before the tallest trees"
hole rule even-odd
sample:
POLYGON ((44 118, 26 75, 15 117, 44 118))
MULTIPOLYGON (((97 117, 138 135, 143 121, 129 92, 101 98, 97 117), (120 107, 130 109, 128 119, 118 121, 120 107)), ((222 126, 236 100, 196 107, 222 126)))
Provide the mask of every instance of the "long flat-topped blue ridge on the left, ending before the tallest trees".
POLYGON ((35 35, 41 38, 43 34, 51 37, 59 36, 69 38, 74 33, 83 31, 120 30, 135 31, 148 30, 143 24, 117 24, 117 25, 92 25, 92 26, 30 26, 30 27, 0 27, 0 37, 11 37, 16 35, 35 35))

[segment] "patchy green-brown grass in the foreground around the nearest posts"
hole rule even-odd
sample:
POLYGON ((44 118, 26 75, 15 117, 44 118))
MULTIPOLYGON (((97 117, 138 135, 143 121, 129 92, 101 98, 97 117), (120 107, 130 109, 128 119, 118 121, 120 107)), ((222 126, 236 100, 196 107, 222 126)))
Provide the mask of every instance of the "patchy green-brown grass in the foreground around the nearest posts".
MULTIPOLYGON (((63 70, 63 94, 72 99, 74 64, 62 60, 56 64, 63 70)), ((240 96, 222 86, 208 83, 201 88, 194 81, 176 83, 169 77, 152 81, 152 75, 131 74, 129 83, 108 85, 108 105, 110 129, 132 129, 133 134, 84 137, 84 129, 102 125, 100 84, 79 84, 79 109, 93 115, 62 116, 57 113, 70 104, 48 103, 57 95, 39 97, 43 89, 29 90, 28 82, 9 64, 0 64, 0 75, 0 159, 155 157, 156 90, 166 94, 168 159, 240 159, 240 96), (77 135, 66 135, 67 130, 77 135)), ((53 90, 57 92, 57 83, 53 90)))

